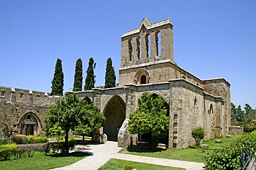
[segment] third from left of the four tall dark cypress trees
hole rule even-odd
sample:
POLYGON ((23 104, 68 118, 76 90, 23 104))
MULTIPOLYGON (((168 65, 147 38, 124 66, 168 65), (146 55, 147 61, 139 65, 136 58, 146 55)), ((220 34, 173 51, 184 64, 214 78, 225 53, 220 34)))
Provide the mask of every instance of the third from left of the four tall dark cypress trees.
POLYGON ((95 65, 96 63, 94 63, 93 61, 93 58, 90 58, 89 59, 89 65, 88 65, 88 68, 87 68, 87 75, 86 75, 86 78, 85 78, 85 85, 84 85, 84 90, 89 90, 89 89, 92 89, 94 88, 94 84, 95 84, 95 77, 94 76, 94 69, 95 69, 95 65))

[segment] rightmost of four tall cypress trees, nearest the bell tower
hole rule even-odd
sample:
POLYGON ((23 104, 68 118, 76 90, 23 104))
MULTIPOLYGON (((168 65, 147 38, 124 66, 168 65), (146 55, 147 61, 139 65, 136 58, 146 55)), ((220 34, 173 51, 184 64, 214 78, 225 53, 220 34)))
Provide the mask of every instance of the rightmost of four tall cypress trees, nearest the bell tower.
POLYGON ((109 59, 107 59, 104 88, 111 88, 111 87, 116 87, 116 73, 112 66, 112 60, 109 57, 109 59))

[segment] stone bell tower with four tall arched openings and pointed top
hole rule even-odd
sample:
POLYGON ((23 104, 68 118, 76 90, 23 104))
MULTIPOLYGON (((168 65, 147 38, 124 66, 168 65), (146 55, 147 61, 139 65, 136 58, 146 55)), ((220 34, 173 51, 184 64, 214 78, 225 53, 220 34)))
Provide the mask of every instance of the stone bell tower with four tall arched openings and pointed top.
POLYGON ((172 28, 169 18, 158 23, 152 23, 144 18, 139 28, 121 36, 119 85, 160 83, 170 79, 170 64, 166 63, 174 63, 172 28), (140 78, 143 81, 138 83, 139 78, 136 75, 141 69, 152 77, 142 75, 140 78), (158 75, 161 78, 154 76, 160 71, 165 75, 158 75))

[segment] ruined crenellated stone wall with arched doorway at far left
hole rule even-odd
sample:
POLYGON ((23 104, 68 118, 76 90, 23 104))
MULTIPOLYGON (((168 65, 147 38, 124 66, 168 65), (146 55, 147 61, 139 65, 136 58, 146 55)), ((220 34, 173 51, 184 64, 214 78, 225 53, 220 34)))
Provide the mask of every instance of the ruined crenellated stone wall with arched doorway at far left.
POLYGON ((12 87, 0 89, 0 138, 7 136, 3 131, 6 125, 15 134, 43 135, 44 115, 48 113, 48 106, 64 98, 12 87))

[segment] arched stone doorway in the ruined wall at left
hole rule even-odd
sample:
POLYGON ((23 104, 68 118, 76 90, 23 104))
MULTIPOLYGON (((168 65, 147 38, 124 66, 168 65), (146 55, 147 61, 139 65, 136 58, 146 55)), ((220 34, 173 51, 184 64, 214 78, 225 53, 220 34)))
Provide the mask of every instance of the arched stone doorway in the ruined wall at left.
POLYGON ((20 134, 27 136, 38 136, 40 131, 42 131, 41 120, 33 111, 28 111, 23 114, 18 120, 18 125, 20 134))

